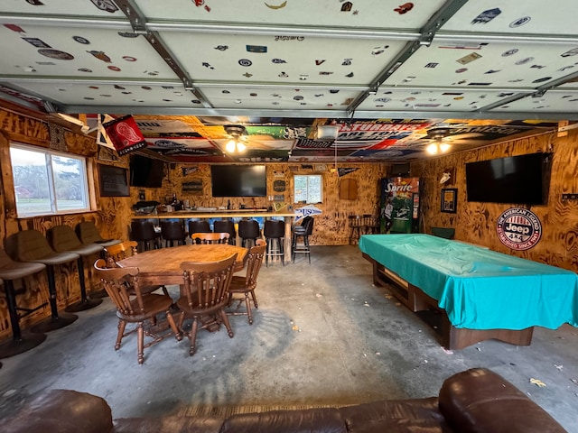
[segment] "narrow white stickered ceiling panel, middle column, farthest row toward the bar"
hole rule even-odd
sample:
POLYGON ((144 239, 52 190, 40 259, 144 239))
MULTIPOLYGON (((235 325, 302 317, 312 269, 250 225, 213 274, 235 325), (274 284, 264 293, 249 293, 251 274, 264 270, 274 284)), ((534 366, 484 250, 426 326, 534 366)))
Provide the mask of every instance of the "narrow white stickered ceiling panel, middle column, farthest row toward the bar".
POLYGON ((359 95, 347 88, 203 88, 213 106, 220 108, 275 108, 344 110, 359 95))

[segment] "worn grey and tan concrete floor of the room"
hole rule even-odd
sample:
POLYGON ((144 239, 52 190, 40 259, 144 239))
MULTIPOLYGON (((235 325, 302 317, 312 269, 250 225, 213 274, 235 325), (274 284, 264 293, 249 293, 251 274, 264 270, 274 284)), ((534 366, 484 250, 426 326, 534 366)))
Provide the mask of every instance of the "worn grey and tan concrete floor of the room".
MULTIPOLYGON (((170 287, 176 298, 178 287, 170 287)), ((530 346, 486 341, 449 353, 431 327, 372 285, 355 246, 313 247, 312 263, 269 263, 249 326, 166 339, 136 363, 135 336, 117 352, 109 299, 79 313, 33 350, 2 360, 0 417, 43 390, 104 397, 113 417, 176 414, 190 406, 350 404, 436 395, 443 380, 488 367, 514 383, 564 428, 578 432, 578 330, 536 328, 530 346), (545 382, 538 387, 535 378, 545 382)))

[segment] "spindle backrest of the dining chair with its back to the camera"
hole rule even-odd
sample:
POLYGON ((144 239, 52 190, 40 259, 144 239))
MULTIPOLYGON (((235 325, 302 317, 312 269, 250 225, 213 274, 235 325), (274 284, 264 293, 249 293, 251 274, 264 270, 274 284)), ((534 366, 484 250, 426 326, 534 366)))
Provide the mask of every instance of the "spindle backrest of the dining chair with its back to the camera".
POLYGON ((237 253, 212 263, 181 263, 184 293, 191 310, 219 309, 228 302, 228 287, 237 253))

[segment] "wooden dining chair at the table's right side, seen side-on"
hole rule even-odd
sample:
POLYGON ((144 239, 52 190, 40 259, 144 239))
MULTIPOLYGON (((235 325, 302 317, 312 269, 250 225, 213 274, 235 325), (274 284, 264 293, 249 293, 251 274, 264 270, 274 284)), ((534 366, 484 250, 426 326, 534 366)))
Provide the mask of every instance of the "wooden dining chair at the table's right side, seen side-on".
POLYGON ((253 325, 253 314, 251 313, 251 301, 256 309, 258 309, 258 304, 256 302, 256 277, 261 269, 261 264, 263 264, 263 256, 266 252, 266 242, 263 239, 257 239, 256 245, 251 247, 247 254, 247 274, 245 276, 233 275, 231 280, 231 285, 228 288, 228 306, 230 307, 233 303, 235 295, 243 295, 242 298, 238 298, 237 309, 234 311, 227 311, 229 316, 248 316, 249 325, 253 325), (241 304, 245 299, 245 311, 239 311, 241 304))

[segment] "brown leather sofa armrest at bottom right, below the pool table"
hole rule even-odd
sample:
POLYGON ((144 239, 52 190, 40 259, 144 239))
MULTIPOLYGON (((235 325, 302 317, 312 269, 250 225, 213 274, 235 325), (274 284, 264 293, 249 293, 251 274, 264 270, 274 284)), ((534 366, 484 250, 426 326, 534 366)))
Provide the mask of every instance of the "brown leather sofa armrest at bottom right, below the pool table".
POLYGON ((567 433, 526 394, 485 368, 446 379, 439 404, 448 424, 463 433, 567 433))

